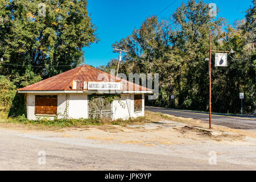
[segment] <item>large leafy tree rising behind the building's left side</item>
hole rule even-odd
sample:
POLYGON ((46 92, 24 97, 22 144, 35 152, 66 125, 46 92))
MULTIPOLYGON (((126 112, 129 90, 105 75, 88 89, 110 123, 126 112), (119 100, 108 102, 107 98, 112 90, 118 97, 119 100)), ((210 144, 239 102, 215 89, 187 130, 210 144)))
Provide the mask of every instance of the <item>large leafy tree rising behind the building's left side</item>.
POLYGON ((86 0, 0 1, 0 71, 11 80, 74 68, 84 61, 82 48, 98 40, 86 0))

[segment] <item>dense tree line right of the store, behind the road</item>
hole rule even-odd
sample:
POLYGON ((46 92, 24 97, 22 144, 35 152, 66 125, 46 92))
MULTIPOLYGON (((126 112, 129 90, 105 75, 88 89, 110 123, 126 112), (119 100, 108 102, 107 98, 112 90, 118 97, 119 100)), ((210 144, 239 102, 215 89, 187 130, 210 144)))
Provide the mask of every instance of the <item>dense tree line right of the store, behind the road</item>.
MULTIPOLYGON (((255 1, 244 19, 229 24, 225 18, 209 14, 203 1, 182 3, 168 19, 150 16, 131 35, 115 42, 113 48, 126 51, 120 64, 122 73, 159 73, 159 97, 147 105, 178 109, 209 110, 209 31, 212 50, 229 51, 228 67, 214 67, 212 54, 212 110, 240 113, 240 92, 245 93, 243 110, 256 108, 256 13, 255 1), (171 99, 171 95, 175 99, 171 99)), ((117 60, 99 67, 117 67, 117 60)))

